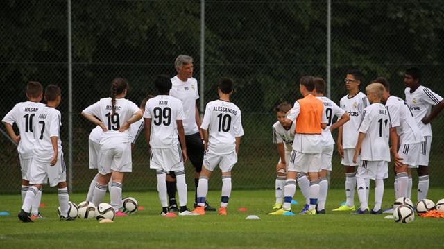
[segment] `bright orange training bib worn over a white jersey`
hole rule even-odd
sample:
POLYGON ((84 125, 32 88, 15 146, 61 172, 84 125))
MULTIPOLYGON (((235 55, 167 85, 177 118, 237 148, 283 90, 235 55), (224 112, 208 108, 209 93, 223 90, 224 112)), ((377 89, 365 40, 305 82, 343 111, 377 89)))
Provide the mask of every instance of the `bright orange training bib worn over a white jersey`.
POLYGON ((321 120, 324 105, 321 100, 308 94, 299 99, 300 111, 296 118, 296 133, 321 134, 321 120))

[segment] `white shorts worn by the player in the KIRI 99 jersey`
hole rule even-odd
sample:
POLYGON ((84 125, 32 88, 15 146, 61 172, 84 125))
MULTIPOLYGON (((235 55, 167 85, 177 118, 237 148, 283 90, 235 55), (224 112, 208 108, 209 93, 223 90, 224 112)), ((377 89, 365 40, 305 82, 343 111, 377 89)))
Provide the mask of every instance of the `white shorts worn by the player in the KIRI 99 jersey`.
POLYGON ((183 171, 182 148, 180 144, 171 148, 151 148, 150 169, 163 169, 170 171, 183 171))

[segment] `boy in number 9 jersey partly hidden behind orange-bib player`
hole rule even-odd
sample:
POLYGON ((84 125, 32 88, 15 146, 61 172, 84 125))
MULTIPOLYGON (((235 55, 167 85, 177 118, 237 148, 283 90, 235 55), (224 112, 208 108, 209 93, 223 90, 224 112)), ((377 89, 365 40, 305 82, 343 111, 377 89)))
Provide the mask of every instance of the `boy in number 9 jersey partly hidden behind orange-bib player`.
POLYGON ((350 120, 348 113, 341 109, 336 103, 324 96, 325 80, 323 78, 314 78, 314 95, 320 99, 324 105, 324 114, 327 118, 327 127, 322 130, 321 144, 321 172, 319 172, 319 199, 316 207, 317 214, 325 214, 325 202, 327 201, 328 180, 327 171, 332 171, 332 156, 334 140, 332 130, 343 126, 350 120), (333 117, 338 117, 338 121, 333 123, 333 117))

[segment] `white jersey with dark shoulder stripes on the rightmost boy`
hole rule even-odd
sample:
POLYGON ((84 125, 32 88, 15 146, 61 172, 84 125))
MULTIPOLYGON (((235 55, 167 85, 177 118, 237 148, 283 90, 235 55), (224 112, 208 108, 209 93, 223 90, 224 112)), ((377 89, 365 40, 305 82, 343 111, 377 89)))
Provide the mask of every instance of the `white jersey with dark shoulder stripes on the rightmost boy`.
POLYGON ((443 101, 443 97, 435 94, 431 89, 423 87, 422 85, 412 93, 410 92, 410 88, 407 87, 404 93, 405 101, 407 102, 407 105, 409 105, 422 135, 432 136, 432 126, 430 123, 425 125, 421 120, 430 114, 432 106, 443 101))

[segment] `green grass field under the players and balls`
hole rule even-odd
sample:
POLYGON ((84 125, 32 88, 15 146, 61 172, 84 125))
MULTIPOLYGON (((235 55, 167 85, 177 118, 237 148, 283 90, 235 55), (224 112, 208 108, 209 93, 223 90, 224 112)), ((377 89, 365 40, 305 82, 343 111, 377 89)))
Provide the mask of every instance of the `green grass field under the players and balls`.
MULTIPOLYGON (((342 189, 331 189, 330 211, 343 201, 342 189)), ((117 217, 114 223, 95 220, 60 222, 56 194, 44 194, 44 221, 22 223, 17 218, 19 195, 0 196, 0 248, 443 248, 444 219, 418 218, 413 223, 395 223, 384 215, 352 215, 328 212, 316 216, 267 216, 273 190, 233 191, 228 216, 207 212, 205 216, 164 218, 155 192, 126 193, 145 207, 136 214, 117 217), (246 207, 247 212, 239 212, 246 207), (245 220, 255 214, 261 220, 245 220)), ((189 192, 189 200, 193 193, 189 192)), ((300 192, 296 193, 302 209, 300 192)), ((416 195, 414 195, 416 197, 416 195)), ((85 194, 71 194, 80 203, 85 194)), ((210 203, 219 203, 219 191, 210 191, 210 203)), ((358 205, 357 196, 355 196, 358 205)), ((393 189, 386 189, 383 207, 388 207, 393 189)), ((444 198, 443 189, 430 189, 428 198, 444 198)), ((106 201, 108 201, 107 199, 106 201)), ((373 197, 370 194, 370 200, 373 197)), ((370 201, 370 203, 372 203, 370 201)))

